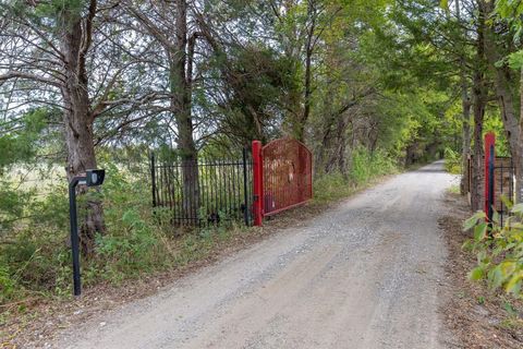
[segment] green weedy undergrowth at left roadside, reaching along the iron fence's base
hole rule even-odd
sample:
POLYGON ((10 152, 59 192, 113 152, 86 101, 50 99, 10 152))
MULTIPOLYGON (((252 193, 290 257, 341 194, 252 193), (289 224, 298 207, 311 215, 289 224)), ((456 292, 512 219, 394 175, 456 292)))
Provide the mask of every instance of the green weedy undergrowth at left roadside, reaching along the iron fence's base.
MULTIPOLYGON (((144 200, 150 195, 144 174, 110 163, 101 166, 107 179, 97 195, 104 201, 107 232, 96 237, 96 254, 83 256, 86 286, 119 284, 185 266, 241 233, 221 213, 226 224, 181 234, 171 225, 169 209, 153 210, 150 201, 144 200)), ((24 208, 27 218, 17 220, 0 239, 0 304, 28 296, 71 293, 69 205, 63 183, 46 188, 45 196, 24 208)))

